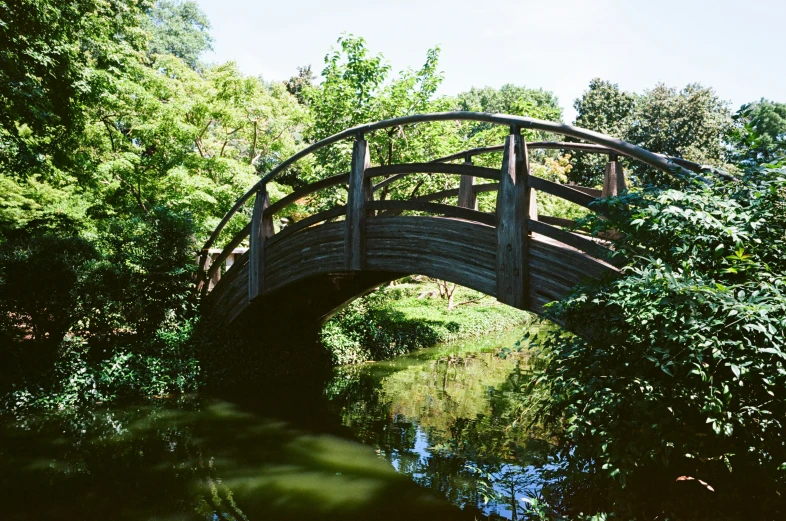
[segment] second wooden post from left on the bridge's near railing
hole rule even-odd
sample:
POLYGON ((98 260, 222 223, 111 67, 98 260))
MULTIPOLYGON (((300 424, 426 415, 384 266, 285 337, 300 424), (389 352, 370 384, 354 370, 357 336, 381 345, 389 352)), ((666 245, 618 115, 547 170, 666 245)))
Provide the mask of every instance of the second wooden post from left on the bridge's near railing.
POLYGON ((358 135, 352 147, 344 232, 344 266, 352 271, 362 270, 366 265, 366 201, 374 197, 371 180, 366 178, 366 169, 370 166, 368 142, 363 135, 358 135))

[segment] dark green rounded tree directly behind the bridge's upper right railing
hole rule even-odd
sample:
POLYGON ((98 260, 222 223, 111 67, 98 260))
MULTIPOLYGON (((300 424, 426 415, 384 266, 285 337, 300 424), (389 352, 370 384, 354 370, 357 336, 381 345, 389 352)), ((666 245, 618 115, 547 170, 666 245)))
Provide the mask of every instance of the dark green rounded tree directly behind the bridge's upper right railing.
MULTIPOLYGON (((636 96, 620 90, 616 83, 595 78, 581 98, 573 102, 575 125, 602 134, 622 138, 630 124, 636 96)), ((582 186, 603 184, 606 158, 597 154, 576 152, 569 179, 582 186)))

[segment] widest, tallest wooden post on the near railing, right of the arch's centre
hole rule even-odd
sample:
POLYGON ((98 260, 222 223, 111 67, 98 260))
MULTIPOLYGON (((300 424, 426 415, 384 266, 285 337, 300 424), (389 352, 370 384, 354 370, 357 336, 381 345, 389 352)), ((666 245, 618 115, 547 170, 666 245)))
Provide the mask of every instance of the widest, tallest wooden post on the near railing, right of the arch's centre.
POLYGON ((528 309, 529 159, 521 134, 512 130, 497 192, 497 300, 528 309))

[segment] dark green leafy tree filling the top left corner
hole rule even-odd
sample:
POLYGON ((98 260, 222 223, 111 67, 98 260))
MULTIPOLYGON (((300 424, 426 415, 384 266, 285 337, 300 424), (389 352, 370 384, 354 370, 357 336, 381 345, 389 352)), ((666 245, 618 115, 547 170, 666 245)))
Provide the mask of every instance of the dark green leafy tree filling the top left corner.
POLYGON ((0 3, 0 168, 15 176, 78 162, 85 108, 138 59, 138 0, 0 3))

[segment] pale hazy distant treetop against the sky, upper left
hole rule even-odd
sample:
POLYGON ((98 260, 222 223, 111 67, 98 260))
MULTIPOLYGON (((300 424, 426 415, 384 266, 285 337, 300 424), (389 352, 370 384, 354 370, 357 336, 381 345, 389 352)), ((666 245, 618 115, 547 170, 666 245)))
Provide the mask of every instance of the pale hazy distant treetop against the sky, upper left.
POLYGON ((146 25, 151 34, 151 53, 172 54, 192 69, 199 66, 203 52, 213 50, 210 20, 196 2, 159 0, 150 10, 146 25))

